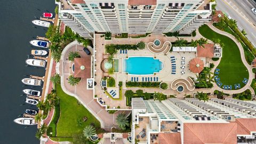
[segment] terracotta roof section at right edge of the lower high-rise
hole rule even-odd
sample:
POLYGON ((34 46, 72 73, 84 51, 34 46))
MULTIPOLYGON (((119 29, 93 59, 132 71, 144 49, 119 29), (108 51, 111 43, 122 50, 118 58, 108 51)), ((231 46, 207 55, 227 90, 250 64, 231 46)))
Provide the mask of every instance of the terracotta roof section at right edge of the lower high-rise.
POLYGON ((236 118, 237 134, 250 134, 256 131, 256 118, 236 118))

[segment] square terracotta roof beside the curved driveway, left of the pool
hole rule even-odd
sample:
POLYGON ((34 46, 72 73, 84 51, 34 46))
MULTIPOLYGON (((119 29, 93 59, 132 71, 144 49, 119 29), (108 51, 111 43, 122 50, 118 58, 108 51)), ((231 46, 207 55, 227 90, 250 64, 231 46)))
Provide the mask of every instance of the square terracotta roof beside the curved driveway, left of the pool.
POLYGON ((90 57, 86 58, 75 58, 75 70, 74 70, 74 77, 90 77, 91 74, 91 59, 90 57), (84 67, 84 69, 81 69, 81 67, 84 67))

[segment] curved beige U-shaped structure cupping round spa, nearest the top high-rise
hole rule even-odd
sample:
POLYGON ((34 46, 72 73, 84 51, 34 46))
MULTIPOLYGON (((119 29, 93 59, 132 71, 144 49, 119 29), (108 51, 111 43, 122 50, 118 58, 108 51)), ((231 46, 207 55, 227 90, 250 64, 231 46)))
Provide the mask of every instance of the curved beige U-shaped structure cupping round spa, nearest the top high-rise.
POLYGON ((164 52, 164 54, 166 54, 167 52, 169 52, 171 50, 172 44, 169 41, 165 41, 163 44, 161 42, 161 44, 159 46, 156 46, 153 42, 149 42, 147 44, 147 47, 150 52, 153 52, 153 53, 164 52))

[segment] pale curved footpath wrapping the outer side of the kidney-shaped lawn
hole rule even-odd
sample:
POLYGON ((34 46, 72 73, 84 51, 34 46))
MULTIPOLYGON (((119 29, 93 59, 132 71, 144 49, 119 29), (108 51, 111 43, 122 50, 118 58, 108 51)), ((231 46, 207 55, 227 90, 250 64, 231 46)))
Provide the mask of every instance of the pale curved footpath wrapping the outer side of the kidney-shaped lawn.
POLYGON ((244 63, 244 66, 247 68, 248 73, 249 73, 249 78, 248 78, 249 81, 247 82, 247 84, 246 84, 244 87, 242 87, 242 88, 239 89, 239 90, 223 90, 223 89, 221 89, 216 83, 213 83, 214 89, 219 90, 219 91, 223 91, 224 93, 230 93, 230 92, 231 92, 231 93, 241 93, 241 92, 245 91, 246 89, 250 89, 250 90, 252 91, 252 93, 254 93, 254 90, 253 90, 252 87, 250 86, 251 83, 252 83, 252 79, 254 78, 254 75, 253 75, 253 73, 252 73, 252 68, 253 68, 253 67, 250 66, 250 65, 247 63, 247 61, 246 61, 246 59, 245 59, 245 57, 244 57, 244 50, 243 50, 243 47, 242 47, 241 43, 239 43, 239 42, 237 41, 237 39, 236 39, 233 35, 231 35, 231 34, 225 32, 225 31, 219 30, 218 28, 215 28, 215 27, 212 25, 212 23, 213 23, 212 21, 209 22, 209 23, 207 23, 207 26, 209 26, 209 27, 210 27, 212 30, 214 30, 216 33, 221 34, 221 35, 225 35, 225 36, 231 38, 231 39, 236 43, 236 45, 237 45, 238 48, 239 48, 239 51, 240 51, 240 54, 241 54, 241 59, 242 59, 242 61, 243 61, 243 63, 244 63))

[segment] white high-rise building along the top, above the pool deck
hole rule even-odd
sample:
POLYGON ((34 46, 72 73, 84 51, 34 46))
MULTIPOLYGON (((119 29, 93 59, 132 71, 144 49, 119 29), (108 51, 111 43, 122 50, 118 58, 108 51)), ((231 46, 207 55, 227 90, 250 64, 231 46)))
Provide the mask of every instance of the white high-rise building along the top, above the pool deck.
POLYGON ((204 0, 62 0, 59 19, 76 33, 92 38, 94 31, 113 34, 162 34, 192 31, 211 20, 204 0))

